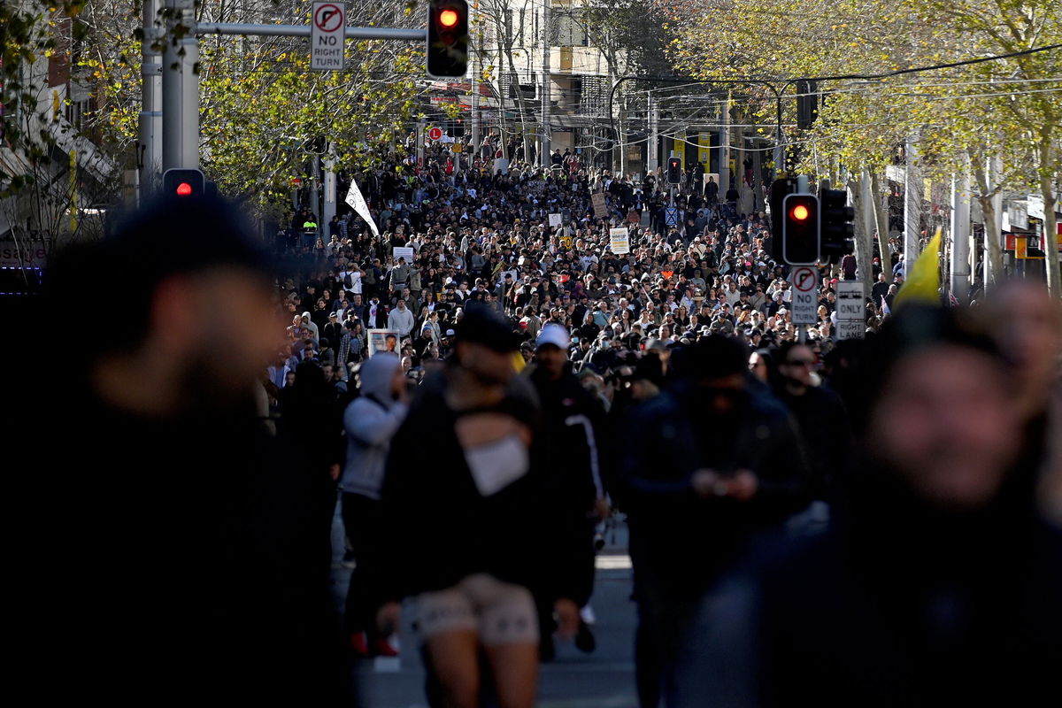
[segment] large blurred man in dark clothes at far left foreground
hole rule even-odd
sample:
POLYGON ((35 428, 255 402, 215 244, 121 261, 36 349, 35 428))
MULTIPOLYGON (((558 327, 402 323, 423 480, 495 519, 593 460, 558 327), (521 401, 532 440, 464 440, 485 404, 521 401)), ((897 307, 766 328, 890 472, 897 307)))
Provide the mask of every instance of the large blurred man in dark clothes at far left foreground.
POLYGON ((16 581, 39 585, 18 640, 52 674, 39 701, 350 700, 320 572, 328 470, 269 436, 255 403, 284 331, 271 280, 264 249, 212 198, 147 205, 50 263, 49 307, 91 292, 121 314, 105 333, 66 322, 79 355, 63 355, 62 384, 19 398, 64 417, 39 428, 48 439, 27 427, 36 459, 13 467, 50 485, 19 497, 48 503, 48 525, 22 531, 57 541, 39 556, 54 571, 16 581), (90 649, 56 680, 71 637, 90 649))

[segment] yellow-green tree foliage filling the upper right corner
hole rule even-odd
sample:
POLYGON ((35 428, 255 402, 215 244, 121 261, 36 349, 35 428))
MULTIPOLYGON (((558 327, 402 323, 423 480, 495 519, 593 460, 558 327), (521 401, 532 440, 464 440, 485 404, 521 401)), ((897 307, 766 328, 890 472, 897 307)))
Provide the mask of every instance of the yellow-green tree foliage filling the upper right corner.
MULTIPOLYGON (((672 21, 683 27, 670 53, 681 70, 704 79, 738 75, 781 86, 798 76, 880 75, 1062 42, 1056 4, 714 0, 704 6, 669 0, 672 21)), ((862 169, 879 175, 897 148, 918 135, 920 168, 930 177, 949 178, 972 162, 982 206, 999 190, 1035 184, 1045 221, 1054 222, 1062 108, 1057 89, 1043 83, 1057 81, 1059 56, 1038 52, 871 81, 820 82, 825 103, 812 129, 795 128, 793 102, 787 101, 782 134, 801 145, 798 169, 835 178, 862 169), (1029 88, 1038 84, 1044 87, 1029 88), (1011 156, 1011 163, 999 179, 979 178, 979 166, 1000 155, 1011 156)), ((766 101, 753 103, 759 108, 753 118, 761 123, 756 129, 764 132, 766 101)), ((1059 292, 1058 264, 1047 260, 1048 284, 1059 292)))

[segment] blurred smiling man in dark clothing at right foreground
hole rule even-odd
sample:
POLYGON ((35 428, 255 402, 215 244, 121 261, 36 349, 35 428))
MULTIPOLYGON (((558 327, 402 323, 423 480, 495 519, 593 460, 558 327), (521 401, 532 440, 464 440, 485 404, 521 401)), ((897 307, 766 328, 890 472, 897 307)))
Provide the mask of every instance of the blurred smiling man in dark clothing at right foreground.
POLYGON ((1039 705, 1062 658, 1062 536, 1024 483, 1012 375, 964 313, 875 342, 871 419, 829 532, 704 604, 669 705, 1039 705))

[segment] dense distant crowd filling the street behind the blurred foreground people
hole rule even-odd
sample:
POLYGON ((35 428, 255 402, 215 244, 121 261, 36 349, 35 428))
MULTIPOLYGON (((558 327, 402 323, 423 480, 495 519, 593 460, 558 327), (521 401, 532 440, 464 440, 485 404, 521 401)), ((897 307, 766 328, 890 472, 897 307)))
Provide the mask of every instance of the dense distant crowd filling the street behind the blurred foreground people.
MULTIPOLYGON (((789 269, 772 258, 763 212, 738 213, 717 191, 686 188, 669 225, 662 174, 636 183, 556 156, 549 169, 513 162, 496 170, 496 160, 479 157, 455 168, 447 153, 419 168, 407 158, 362 173, 379 236, 353 211, 322 234, 304 231, 297 225, 308 217, 295 214, 279 237, 301 263, 302 277, 282 293, 289 314, 302 316, 291 329, 295 357, 312 340, 314 351, 304 356, 325 347, 342 372, 367 355, 367 330, 390 329, 398 332, 404 369, 421 369, 445 359, 447 332, 479 304, 504 313, 529 342, 546 323, 564 326, 577 368, 602 377, 650 343, 668 347, 708 333, 753 347, 798 339, 789 269), (596 192, 605 197, 597 209, 596 192), (621 248, 611 242, 617 227, 628 229, 621 248)), ((884 269, 874 263, 871 330, 903 284, 898 256, 889 257, 884 269)), ((818 322, 806 330, 822 355, 836 340, 835 282, 823 279, 818 322)))

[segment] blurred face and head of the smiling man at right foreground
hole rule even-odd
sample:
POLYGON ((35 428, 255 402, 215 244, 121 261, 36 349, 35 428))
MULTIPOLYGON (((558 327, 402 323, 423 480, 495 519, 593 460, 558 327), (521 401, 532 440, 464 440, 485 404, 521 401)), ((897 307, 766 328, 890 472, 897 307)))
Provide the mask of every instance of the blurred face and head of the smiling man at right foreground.
POLYGON ((976 511, 1021 445, 1010 369, 961 310, 908 306, 875 340, 872 460, 930 506, 976 511))

